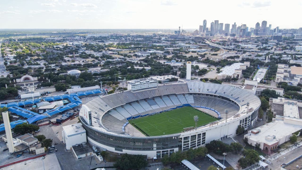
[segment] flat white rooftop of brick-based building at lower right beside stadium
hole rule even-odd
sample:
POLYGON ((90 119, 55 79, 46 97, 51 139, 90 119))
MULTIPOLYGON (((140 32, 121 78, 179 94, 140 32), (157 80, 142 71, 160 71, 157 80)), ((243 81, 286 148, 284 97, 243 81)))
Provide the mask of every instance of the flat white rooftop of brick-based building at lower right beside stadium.
POLYGON ((283 120, 276 119, 274 122, 257 127, 256 130, 259 130, 259 133, 249 133, 246 135, 246 137, 253 141, 272 145, 276 142, 279 142, 279 139, 283 138, 284 136, 288 136, 289 134, 297 132, 300 129, 301 126, 299 125, 284 123, 283 120))

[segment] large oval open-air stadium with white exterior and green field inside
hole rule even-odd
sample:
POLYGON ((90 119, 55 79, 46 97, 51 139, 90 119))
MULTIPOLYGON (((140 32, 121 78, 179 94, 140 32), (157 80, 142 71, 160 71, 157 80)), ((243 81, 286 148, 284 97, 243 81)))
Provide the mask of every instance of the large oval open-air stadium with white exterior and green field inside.
POLYGON ((98 96, 79 114, 91 145, 151 159, 235 136, 255 123, 260 104, 246 90, 191 80, 98 96))

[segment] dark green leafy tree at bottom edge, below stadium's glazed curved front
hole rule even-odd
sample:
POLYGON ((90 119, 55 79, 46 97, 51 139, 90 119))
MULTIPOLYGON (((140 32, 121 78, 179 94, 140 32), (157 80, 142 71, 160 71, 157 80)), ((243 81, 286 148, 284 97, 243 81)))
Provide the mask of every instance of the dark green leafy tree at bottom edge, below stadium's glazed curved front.
POLYGON ((141 169, 145 166, 147 166, 146 156, 128 155, 127 153, 122 155, 114 164, 114 167, 121 170, 141 169))

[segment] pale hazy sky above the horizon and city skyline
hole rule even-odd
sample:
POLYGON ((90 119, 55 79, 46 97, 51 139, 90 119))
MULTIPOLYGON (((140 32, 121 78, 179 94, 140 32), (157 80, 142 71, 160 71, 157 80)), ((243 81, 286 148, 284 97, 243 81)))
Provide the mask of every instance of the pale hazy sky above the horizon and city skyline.
POLYGON ((196 28, 207 20, 300 28, 301 0, 0 0, 0 28, 196 28))

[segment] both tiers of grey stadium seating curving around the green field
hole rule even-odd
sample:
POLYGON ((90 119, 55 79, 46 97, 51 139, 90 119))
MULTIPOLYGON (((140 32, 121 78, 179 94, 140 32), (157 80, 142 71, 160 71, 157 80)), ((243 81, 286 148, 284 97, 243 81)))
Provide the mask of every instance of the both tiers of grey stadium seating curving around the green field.
POLYGON ((165 85, 151 90, 125 91, 97 97, 86 105, 92 110, 93 126, 98 125, 101 128, 104 126, 111 132, 123 133, 123 126, 129 119, 170 110, 182 105, 211 108, 217 114, 220 113, 222 118, 226 117, 226 109, 228 111, 227 117, 239 112, 241 108, 237 104, 222 99, 220 96, 234 100, 243 108, 242 110, 247 107, 247 102, 249 102, 250 108, 257 108, 260 103, 257 97, 238 88, 191 81, 187 84, 165 85), (196 95, 196 93, 202 94, 196 95), (111 111, 108 112, 108 110, 111 111), (106 114, 104 115, 104 113, 106 114))

